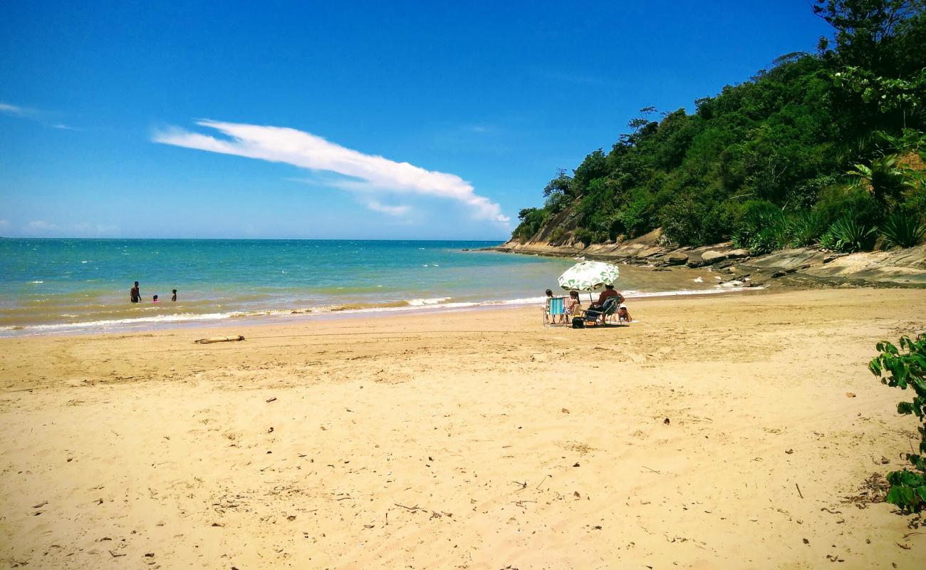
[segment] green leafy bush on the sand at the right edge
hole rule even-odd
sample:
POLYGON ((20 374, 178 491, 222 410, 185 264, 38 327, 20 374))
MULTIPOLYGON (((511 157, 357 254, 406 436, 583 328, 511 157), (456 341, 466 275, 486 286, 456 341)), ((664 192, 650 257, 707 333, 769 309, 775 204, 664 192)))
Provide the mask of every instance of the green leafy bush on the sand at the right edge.
POLYGON ((876 346, 878 356, 869 362, 869 370, 881 378, 882 384, 913 389, 913 401, 897 404, 897 413, 913 414, 920 419, 920 453, 907 453, 907 461, 914 471, 894 471, 887 474, 891 490, 887 501, 902 511, 918 513, 926 507, 926 334, 915 340, 901 336, 900 348, 886 340, 876 346))

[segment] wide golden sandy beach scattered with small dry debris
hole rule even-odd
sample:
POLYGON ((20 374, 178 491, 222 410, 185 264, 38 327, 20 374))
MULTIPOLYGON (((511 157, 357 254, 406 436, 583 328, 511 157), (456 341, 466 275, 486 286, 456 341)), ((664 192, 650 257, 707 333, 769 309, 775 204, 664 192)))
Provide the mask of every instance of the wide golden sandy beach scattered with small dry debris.
POLYGON ((926 567, 914 517, 846 499, 910 450, 909 394, 866 363, 923 330, 922 290, 632 312, 0 339, 0 561, 926 567))

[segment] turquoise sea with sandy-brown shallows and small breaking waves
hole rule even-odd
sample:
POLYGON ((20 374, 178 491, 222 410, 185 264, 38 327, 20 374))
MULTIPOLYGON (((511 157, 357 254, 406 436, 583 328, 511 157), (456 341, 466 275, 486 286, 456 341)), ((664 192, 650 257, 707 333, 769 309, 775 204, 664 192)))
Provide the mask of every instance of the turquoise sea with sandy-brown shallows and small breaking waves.
MULTIPOLYGON (((575 263, 479 250, 497 243, 3 238, 0 336, 539 305, 575 263), (129 301, 134 281, 138 304, 129 301)), ((705 285, 621 266, 619 288, 628 297, 717 291, 705 285)))

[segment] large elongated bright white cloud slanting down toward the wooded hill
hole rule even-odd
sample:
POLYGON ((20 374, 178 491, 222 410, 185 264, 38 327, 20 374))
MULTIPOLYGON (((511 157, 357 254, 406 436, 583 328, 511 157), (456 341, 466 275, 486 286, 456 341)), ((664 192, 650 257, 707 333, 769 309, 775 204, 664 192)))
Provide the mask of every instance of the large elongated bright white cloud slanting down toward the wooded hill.
MULTIPOLYGON (((374 193, 410 193, 457 200, 480 220, 508 222, 501 208, 489 198, 479 196, 471 184, 445 172, 428 171, 407 162, 365 155, 357 150, 331 143, 320 136, 285 127, 199 120, 198 125, 228 135, 218 139, 206 134, 170 129, 155 133, 154 141, 165 145, 196 148, 239 157, 284 162, 310 171, 331 171, 356 180, 338 180, 330 185, 343 190, 374 193)), ((370 202, 367 202, 370 208, 370 202)), ((378 204, 378 202, 377 202, 378 204)), ((402 206, 382 206, 383 211, 398 215, 402 206), (392 211, 387 212, 386 209, 392 211)), ((375 208, 373 208, 375 209, 375 208)), ((405 213, 402 211, 401 213, 405 213)))

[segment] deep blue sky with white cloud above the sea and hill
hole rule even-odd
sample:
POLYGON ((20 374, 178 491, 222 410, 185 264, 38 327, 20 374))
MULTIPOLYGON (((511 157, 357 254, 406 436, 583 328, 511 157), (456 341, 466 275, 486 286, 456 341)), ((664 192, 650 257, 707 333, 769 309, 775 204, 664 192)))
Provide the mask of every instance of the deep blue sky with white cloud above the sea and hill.
POLYGON ((640 108, 831 35, 806 0, 147 4, 5 3, 0 235, 504 239, 640 108))

